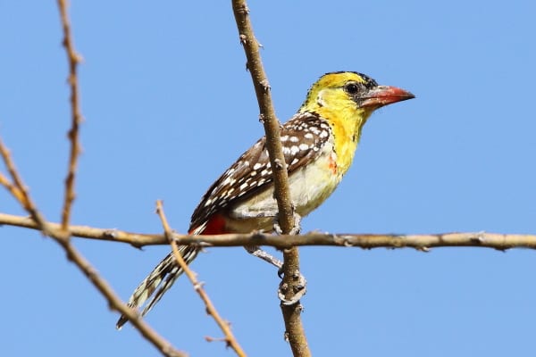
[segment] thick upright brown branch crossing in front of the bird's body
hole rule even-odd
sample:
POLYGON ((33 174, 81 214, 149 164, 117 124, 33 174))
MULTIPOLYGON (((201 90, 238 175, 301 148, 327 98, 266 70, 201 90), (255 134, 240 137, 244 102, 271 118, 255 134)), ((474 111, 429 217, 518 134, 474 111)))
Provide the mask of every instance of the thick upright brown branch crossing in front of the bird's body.
MULTIPOLYGON (((273 111, 270 85, 264 73, 263 62, 259 54, 257 42, 251 21, 249 9, 245 0, 233 0, 232 8, 239 29, 240 43, 244 46, 247 57, 247 70, 251 73, 251 79, 255 87, 255 94, 260 109, 260 120, 264 123, 266 133, 266 148, 270 156, 273 172, 274 195, 279 210, 279 224, 284 234, 288 234, 294 228, 294 210, 290 199, 289 178, 287 164, 283 156, 280 139, 280 123, 273 111)), ((298 291, 297 281, 292 278, 295 271, 299 271, 299 259, 297 247, 289 248, 283 253, 283 281, 282 284, 289 286, 285 298, 292 300, 295 291, 298 291)), ((311 352, 307 345, 305 330, 300 319, 301 304, 299 301, 290 305, 281 304, 285 327, 285 336, 289 338, 290 348, 295 356, 310 356, 311 352)))

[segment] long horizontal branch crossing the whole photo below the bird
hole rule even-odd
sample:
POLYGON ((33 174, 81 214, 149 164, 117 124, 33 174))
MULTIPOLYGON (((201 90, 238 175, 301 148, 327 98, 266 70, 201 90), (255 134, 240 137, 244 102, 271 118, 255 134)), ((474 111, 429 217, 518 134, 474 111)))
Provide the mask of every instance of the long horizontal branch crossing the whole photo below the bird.
MULTIPOLYGON (((39 229, 38 224, 29 217, 4 213, 0 213, 0 225, 39 229)), ((60 228, 60 225, 57 223, 48 223, 48 225, 53 229, 60 228)), ((73 237, 128 243, 136 247, 145 245, 169 245, 168 240, 163 234, 139 234, 118 229, 91 228, 87 226, 70 226, 69 231, 73 237)), ((179 245, 271 245, 281 249, 297 245, 358 246, 364 249, 415 248, 421 251, 446 246, 474 246, 498 250, 507 250, 510 248, 536 249, 536 235, 485 232, 428 235, 329 234, 311 232, 301 236, 272 236, 259 232, 218 236, 188 236, 175 233, 173 234, 173 238, 179 245)))

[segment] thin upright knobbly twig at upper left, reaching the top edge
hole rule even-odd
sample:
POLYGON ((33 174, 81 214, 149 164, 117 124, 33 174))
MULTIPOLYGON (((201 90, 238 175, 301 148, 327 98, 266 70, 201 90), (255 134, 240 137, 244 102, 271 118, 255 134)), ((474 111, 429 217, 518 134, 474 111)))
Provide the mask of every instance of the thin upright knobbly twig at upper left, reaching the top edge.
POLYGON ((82 122, 82 114, 80 112, 80 95, 77 76, 77 67, 80 63, 80 55, 74 49, 74 43, 71 36, 71 25, 69 15, 67 14, 66 0, 58 0, 60 14, 63 27, 63 47, 67 54, 69 62, 69 85, 71 86, 71 129, 68 132, 68 137, 71 142, 71 150, 69 153, 69 168, 65 178, 65 196, 62 209, 62 229, 67 230, 71 219, 71 205, 75 198, 74 179, 78 157, 80 155, 79 128, 82 122))

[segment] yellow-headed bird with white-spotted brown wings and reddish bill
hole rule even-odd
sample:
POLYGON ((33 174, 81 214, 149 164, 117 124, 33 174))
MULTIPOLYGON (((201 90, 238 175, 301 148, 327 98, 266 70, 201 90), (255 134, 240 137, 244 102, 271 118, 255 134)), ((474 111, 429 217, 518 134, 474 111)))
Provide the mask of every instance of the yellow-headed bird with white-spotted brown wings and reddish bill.
MULTIPOLYGON (((297 113, 280 127, 290 198, 298 218, 316 209, 339 185, 371 114, 411 98, 415 95, 404 89, 378 85, 355 71, 326 73, 309 88, 297 113)), ((261 137, 208 188, 191 216, 188 234, 272 233, 278 212, 273 191, 266 137, 261 137)), ((199 249, 179 247, 188 264, 199 249)), ((145 316, 181 273, 173 254, 168 254, 139 284, 128 305, 139 308, 145 304, 141 311, 145 316)), ((121 315, 116 328, 127 321, 121 315)))

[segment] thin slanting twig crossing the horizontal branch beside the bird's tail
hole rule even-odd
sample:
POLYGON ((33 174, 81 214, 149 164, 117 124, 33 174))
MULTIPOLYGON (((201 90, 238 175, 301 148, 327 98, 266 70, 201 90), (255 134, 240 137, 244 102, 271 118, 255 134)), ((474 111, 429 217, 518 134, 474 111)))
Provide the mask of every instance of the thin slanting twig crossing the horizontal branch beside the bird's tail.
POLYGON ((214 304, 211 302, 210 298, 206 294, 205 289, 203 289, 203 283, 197 280, 196 274, 189 269, 188 264, 184 262, 182 255, 180 255, 179 248, 173 240, 172 228, 170 228, 170 225, 165 218, 162 201, 160 200, 156 201, 156 213, 158 213, 160 220, 162 220, 164 236, 168 239, 169 244, 172 245, 172 251, 175 257, 175 261, 179 264, 180 269, 184 271, 184 274, 186 274, 186 276, 194 286, 194 290, 196 290, 197 294, 201 297, 203 303, 205 303, 207 313, 214 318, 216 324, 222 330, 223 334, 225 335, 225 342, 235 351, 235 353, 239 355, 239 357, 246 357, 246 353, 244 353, 242 347, 240 347, 239 345, 239 342, 232 334, 229 323, 222 319, 219 312, 214 307, 214 304))

